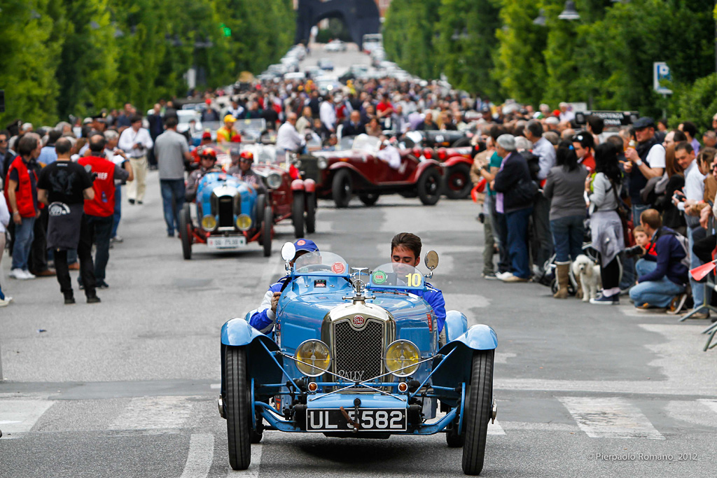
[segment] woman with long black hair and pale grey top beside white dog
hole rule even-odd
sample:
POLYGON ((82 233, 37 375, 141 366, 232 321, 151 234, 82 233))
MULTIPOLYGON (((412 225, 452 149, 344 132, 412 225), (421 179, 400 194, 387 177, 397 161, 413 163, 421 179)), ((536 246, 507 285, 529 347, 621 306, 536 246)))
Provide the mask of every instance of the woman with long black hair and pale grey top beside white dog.
POLYGON ((617 214, 622 172, 617 164, 617 149, 612 143, 595 148, 595 174, 585 181, 590 201, 592 247, 600 253, 602 294, 591 304, 618 305, 620 266, 617 254, 625 249, 622 221, 617 214))

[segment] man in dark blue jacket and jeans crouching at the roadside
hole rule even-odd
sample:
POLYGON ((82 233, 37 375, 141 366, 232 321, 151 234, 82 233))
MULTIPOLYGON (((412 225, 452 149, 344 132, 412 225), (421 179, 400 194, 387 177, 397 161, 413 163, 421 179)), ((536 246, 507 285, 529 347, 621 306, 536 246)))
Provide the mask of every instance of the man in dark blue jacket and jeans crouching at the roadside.
POLYGON ((687 251, 678 239, 678 234, 668 227, 663 227, 660 213, 655 209, 642 211, 640 224, 647 236, 652 237, 657 262, 640 259, 635 264, 639 277, 637 285, 630 289, 630 298, 635 302, 635 307, 668 307, 676 296, 680 296, 680 300, 684 301, 688 267, 683 259, 687 257, 687 251))

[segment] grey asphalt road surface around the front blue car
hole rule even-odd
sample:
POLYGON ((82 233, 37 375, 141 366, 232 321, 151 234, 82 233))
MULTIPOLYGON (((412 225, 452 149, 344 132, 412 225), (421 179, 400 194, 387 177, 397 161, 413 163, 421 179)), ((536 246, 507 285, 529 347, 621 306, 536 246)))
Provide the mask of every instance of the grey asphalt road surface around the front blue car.
MULTIPOLYGON (((442 434, 372 441, 272 431, 252 446, 252 467, 232 472, 216 402, 219 328, 280 277, 292 228, 277 226, 268 259, 258 246, 196 247, 184 261, 164 231, 156 173, 145 204, 125 202, 123 213, 125 242, 110 251, 101 304, 80 293, 62 305, 54 278, 7 279, 4 257, 3 290, 15 302, 0 309, 0 477, 462 475, 461 451, 442 434)), ((310 237, 374 267, 389 260, 395 233, 419 234, 440 254, 432 283, 448 308, 495 328, 498 420, 483 476, 713 477, 717 350, 701 351, 706 321, 485 281, 477 214, 473 202, 446 199, 427 207, 382 196, 343 210, 320 201, 310 237)))

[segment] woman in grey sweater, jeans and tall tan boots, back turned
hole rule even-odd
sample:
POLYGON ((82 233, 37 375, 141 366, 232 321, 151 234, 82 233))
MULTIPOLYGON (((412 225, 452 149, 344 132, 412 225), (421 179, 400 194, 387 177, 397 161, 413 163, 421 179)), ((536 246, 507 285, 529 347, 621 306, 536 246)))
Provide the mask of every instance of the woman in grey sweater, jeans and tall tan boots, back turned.
POLYGON ((553 297, 566 299, 570 283, 570 261, 582 254, 585 235, 585 178, 587 168, 578 163, 572 143, 563 141, 550 169, 543 195, 550 201, 550 229, 555 244, 558 292, 553 297))

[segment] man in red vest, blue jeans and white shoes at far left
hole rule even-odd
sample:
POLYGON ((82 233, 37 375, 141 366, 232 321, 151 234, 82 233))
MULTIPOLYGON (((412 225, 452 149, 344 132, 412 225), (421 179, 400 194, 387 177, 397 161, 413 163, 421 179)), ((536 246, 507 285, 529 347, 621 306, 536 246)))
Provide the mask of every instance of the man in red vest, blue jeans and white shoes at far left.
POLYGON ((28 270, 27 258, 34 239, 35 219, 40 214, 37 204, 37 174, 34 162, 42 149, 39 135, 27 133, 18 140, 17 156, 10 164, 5 181, 5 197, 15 223, 12 268, 10 277, 34 279, 28 270))

